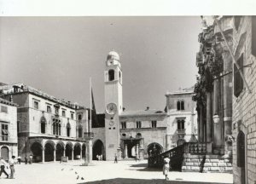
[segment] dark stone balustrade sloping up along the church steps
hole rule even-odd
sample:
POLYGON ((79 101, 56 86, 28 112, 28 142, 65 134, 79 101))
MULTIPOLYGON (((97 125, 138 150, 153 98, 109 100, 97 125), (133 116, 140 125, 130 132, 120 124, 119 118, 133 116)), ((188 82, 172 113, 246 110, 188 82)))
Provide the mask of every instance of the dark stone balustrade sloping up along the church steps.
POLYGON ((153 155, 148 158, 148 167, 162 167, 164 158, 171 159, 170 165, 172 170, 182 170, 184 154, 202 154, 207 153, 207 147, 212 147, 212 144, 199 142, 184 142, 183 145, 174 147, 167 152, 162 152, 158 155, 153 155))

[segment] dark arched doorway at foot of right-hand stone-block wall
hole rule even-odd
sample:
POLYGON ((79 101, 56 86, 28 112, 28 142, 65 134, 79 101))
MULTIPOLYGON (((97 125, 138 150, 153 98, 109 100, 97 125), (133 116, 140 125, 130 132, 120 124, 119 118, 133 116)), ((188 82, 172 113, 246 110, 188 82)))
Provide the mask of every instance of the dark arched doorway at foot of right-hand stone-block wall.
POLYGON ((242 131, 237 136, 237 167, 241 168, 241 184, 246 183, 245 173, 245 135, 242 131))

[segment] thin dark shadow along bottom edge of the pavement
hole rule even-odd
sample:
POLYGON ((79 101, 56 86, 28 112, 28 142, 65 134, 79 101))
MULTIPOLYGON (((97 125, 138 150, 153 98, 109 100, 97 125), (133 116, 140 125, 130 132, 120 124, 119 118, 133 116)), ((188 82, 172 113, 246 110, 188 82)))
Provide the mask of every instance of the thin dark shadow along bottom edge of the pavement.
MULTIPOLYGON (((144 180, 144 179, 131 179, 131 178, 114 178, 109 180, 102 180, 102 181, 89 181, 89 182, 79 182, 79 184, 105 184, 105 183, 111 183, 111 184, 218 184, 214 182, 200 182, 200 181, 165 181, 164 179, 160 180, 144 180)), ((224 183, 222 183, 224 184, 224 183)))

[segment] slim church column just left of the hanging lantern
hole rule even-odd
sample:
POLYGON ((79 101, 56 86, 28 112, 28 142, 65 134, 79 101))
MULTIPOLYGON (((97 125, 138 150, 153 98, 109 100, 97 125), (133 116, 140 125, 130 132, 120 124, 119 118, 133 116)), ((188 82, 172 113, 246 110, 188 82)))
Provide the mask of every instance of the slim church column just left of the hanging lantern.
POLYGON ((207 92, 207 152, 212 152, 212 93, 207 92))

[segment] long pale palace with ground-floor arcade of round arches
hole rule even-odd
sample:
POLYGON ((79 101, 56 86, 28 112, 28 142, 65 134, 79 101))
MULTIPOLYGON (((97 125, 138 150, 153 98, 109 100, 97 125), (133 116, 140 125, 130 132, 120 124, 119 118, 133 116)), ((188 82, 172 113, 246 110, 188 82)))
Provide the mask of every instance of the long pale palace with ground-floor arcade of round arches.
POLYGON ((18 154, 35 162, 82 159, 88 152, 88 109, 56 99, 24 83, 2 87, 3 98, 18 104, 18 154))

